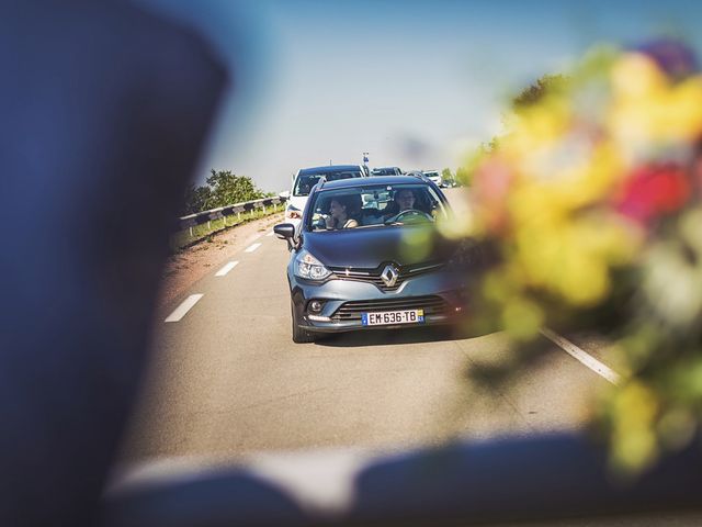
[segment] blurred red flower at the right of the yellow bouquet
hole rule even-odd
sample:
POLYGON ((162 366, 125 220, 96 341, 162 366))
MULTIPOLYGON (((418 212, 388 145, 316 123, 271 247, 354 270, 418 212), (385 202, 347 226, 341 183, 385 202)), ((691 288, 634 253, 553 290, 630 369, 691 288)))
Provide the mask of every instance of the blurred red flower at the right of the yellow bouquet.
POLYGON ((678 211, 690 198, 684 171, 672 164, 647 165, 631 175, 616 201, 616 210, 641 223, 678 211))

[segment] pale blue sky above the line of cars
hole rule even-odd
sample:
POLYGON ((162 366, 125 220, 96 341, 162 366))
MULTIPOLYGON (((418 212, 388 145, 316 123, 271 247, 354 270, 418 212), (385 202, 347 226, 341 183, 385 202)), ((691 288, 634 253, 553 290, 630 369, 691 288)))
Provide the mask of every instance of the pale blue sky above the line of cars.
POLYGON ((661 35, 702 53, 702 2, 136 0, 196 29, 233 83, 194 179, 211 168, 290 188, 298 169, 453 170, 501 130, 511 94, 598 44, 661 35))

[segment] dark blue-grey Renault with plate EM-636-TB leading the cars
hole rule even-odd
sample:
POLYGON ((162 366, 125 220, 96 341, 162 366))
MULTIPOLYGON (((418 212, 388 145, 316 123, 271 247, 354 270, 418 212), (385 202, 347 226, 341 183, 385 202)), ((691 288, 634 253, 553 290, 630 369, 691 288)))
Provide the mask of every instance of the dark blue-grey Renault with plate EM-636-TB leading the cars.
POLYGON ((424 178, 319 182, 299 235, 291 224, 275 226, 292 248, 293 340, 456 322, 465 304, 465 272, 456 242, 439 233, 442 221, 451 221, 449 203, 424 178), (329 214, 340 210, 347 228, 332 228, 329 214))

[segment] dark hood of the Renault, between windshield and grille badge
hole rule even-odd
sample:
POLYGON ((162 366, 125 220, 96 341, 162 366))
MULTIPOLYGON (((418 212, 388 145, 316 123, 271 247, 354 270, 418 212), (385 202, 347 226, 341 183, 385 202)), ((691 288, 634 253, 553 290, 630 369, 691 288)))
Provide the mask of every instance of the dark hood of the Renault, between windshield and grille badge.
POLYGON ((399 266, 445 261, 457 247, 433 226, 350 228, 303 237, 304 247, 329 267, 374 269, 388 261, 399 266))

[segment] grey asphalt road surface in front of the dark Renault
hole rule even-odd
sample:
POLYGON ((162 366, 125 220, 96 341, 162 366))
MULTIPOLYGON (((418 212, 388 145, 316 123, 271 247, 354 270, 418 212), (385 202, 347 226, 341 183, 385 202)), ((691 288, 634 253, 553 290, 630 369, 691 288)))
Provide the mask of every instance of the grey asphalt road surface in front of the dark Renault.
POLYGON ((284 242, 262 235, 236 266, 222 261, 158 314, 127 462, 319 447, 386 451, 571 429, 608 383, 544 340, 545 356, 509 384, 478 385, 466 375, 472 368, 509 357, 499 333, 380 330, 295 345, 287 259, 284 242), (163 322, 192 294, 202 296, 182 318, 163 322))

